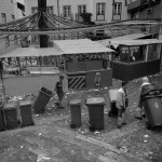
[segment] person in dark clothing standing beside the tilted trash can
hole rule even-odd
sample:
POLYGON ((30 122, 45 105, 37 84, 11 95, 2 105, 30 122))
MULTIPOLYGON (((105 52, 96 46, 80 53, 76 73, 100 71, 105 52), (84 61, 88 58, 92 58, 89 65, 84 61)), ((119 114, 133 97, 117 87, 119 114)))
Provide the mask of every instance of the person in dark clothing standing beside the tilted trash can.
POLYGON ((55 90, 54 90, 54 92, 56 92, 56 94, 58 96, 58 104, 57 104, 57 106, 59 108, 64 108, 63 107, 63 97, 64 97, 63 79, 64 79, 64 76, 59 76, 59 80, 56 82, 55 90))

